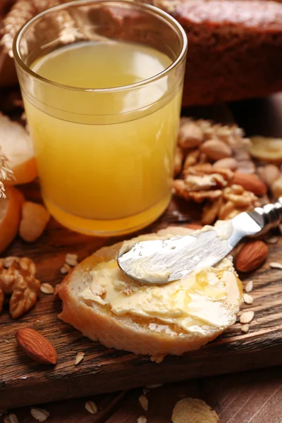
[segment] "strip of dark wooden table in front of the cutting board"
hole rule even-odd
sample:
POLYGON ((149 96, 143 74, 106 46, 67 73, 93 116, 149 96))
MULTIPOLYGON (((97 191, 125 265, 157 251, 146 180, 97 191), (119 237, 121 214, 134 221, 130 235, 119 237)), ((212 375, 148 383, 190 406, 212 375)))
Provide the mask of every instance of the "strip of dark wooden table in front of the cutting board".
MULTIPOLYGON (((139 403, 142 388, 102 396, 42 405, 51 415, 48 423, 136 423, 141 415, 147 423, 171 423, 176 402, 185 397, 202 398, 219 415, 221 423, 281 423, 282 368, 263 369, 205 379, 166 384, 147 394, 149 410, 139 403), (99 411, 90 415, 85 402, 93 400, 99 411)), ((34 423, 30 407, 9 410, 19 422, 34 423)), ((3 420, 0 418, 0 422, 3 420)))

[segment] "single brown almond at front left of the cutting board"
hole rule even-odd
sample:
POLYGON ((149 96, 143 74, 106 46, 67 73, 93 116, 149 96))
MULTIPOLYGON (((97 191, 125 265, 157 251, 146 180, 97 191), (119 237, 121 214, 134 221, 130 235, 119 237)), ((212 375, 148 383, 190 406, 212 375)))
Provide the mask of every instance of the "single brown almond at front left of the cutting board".
POLYGON ((16 331, 16 342, 32 360, 42 364, 56 364, 55 348, 35 329, 24 328, 16 331))

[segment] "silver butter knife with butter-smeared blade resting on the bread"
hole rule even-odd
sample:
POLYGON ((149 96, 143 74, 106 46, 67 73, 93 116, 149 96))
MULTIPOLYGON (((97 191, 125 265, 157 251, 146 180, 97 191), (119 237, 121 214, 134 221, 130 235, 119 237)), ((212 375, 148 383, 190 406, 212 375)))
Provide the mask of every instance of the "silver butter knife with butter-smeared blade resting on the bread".
POLYGON ((176 281, 200 267, 214 266, 242 238, 267 233, 281 220, 282 197, 275 204, 256 207, 192 235, 125 243, 118 252, 118 266, 123 274, 140 283, 176 281))

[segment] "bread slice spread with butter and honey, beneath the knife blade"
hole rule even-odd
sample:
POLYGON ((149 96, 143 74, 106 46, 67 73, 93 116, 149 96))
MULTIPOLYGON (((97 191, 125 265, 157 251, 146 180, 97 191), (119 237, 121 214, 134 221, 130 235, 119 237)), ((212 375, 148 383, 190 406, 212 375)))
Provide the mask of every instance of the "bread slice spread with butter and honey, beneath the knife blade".
MULTIPOLYGON (((168 238, 177 229, 136 239, 168 238)), ((108 348, 154 356, 197 350, 235 323, 242 284, 231 260, 173 283, 145 286, 118 269, 121 245, 103 247, 66 276, 57 288, 60 319, 108 348)))

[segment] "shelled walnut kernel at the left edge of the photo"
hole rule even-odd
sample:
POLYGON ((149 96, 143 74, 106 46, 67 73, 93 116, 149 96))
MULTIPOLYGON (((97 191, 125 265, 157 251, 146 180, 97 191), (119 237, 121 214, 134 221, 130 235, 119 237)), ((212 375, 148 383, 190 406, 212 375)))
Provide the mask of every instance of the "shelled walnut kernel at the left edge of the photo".
POLYGON ((20 317, 36 304, 40 292, 40 282, 35 278, 35 274, 35 263, 27 257, 20 259, 11 257, 11 260, 1 259, 0 312, 4 303, 4 295, 11 295, 10 314, 13 319, 20 317))

